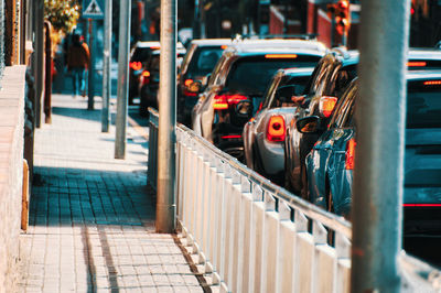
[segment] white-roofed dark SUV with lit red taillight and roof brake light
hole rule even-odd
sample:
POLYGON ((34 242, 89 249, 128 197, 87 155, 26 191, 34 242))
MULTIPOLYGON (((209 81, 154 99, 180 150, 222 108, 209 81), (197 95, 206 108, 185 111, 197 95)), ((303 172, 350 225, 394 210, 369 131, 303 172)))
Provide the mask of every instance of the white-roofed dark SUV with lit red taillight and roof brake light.
POLYGON ((244 124, 259 109, 272 75, 280 68, 314 66, 325 52, 315 41, 237 41, 224 52, 193 108, 193 130, 243 159, 244 124))

